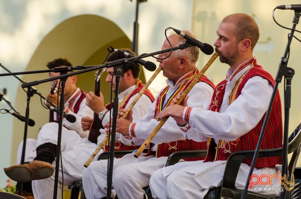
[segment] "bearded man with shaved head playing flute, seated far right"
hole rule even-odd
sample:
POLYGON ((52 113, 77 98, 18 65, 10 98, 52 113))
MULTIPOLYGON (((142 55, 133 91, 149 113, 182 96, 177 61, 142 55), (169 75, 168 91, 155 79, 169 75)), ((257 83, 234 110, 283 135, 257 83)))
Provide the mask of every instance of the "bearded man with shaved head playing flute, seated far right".
MULTIPOLYGON (((225 17, 217 29, 214 42, 221 63, 228 64, 226 79, 214 90, 212 99, 205 101, 203 108, 193 107, 183 101, 159 113, 159 119, 172 116, 183 130, 186 138, 208 141, 208 153, 204 161, 180 162, 153 173, 150 189, 154 198, 203 198, 209 188, 221 184, 228 157, 235 151, 255 150, 263 120, 272 96, 275 81, 271 74, 257 64, 253 49, 259 38, 255 20, 247 14, 232 14, 225 17)), ((179 96, 173 99, 177 102, 179 96)), ((187 101, 188 100, 188 101, 187 101)), ((279 91, 272 104, 261 149, 282 146, 282 114, 279 91)), ((248 179, 251 159, 242 162, 235 186, 243 189, 248 179)), ((254 176, 277 176, 281 156, 258 158, 254 176)), ((257 178, 258 180, 258 178, 257 178)), ((253 180, 252 180, 253 181, 253 180)), ((268 179, 264 179, 264 182, 268 179)), ((277 177, 263 185, 280 187, 277 177)), ((258 193, 279 196, 279 189, 258 193)))

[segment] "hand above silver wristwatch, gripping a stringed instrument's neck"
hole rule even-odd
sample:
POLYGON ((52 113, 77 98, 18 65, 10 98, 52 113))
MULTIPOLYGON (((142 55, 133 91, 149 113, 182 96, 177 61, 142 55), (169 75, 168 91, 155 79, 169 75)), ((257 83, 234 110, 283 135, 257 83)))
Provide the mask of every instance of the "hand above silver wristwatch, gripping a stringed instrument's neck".
POLYGON ((99 113, 103 111, 106 107, 104 106, 104 99, 102 92, 99 93, 99 97, 95 95, 93 91, 86 94, 86 105, 94 111, 94 113, 99 113))

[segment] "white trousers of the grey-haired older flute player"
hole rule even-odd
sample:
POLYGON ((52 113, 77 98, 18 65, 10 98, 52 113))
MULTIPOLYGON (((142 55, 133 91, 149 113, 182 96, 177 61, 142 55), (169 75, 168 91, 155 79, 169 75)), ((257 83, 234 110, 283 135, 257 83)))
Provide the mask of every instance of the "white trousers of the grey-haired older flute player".
MULTIPOLYGON (((127 154, 114 159, 112 176, 112 194, 118 198, 143 198, 143 187, 149 185, 150 176, 162 168, 167 157, 139 156, 127 154)), ((82 182, 87 199, 107 196, 107 160, 94 161, 84 169, 82 182)))

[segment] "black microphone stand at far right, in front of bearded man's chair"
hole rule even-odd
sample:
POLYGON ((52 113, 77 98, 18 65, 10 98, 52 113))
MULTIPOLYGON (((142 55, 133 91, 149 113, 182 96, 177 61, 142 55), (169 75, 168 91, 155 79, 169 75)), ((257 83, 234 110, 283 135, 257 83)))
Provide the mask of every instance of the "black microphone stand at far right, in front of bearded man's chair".
MULTIPOLYGON (((241 199, 244 199, 245 196, 246 196, 246 193, 248 191, 248 186, 249 186, 249 179, 250 179, 250 176, 252 175, 253 173, 253 170, 254 170, 254 167, 255 167, 255 163, 256 163, 256 159, 258 157, 258 154, 259 154, 259 150, 260 150, 260 145, 261 145, 261 142, 262 142, 262 139, 263 139, 263 135, 264 135, 264 131, 266 130, 266 127, 267 127, 267 122, 268 122, 268 119, 269 119, 269 116, 270 116, 270 113, 271 113, 271 109, 272 109, 272 104, 273 104, 273 101, 275 99, 275 95, 276 95, 276 92, 277 92, 277 88, 278 88, 278 84, 281 82, 281 79, 282 79, 282 76, 284 76, 287 80, 287 85, 286 85, 286 89, 285 89, 285 93, 284 93, 284 130, 283 130, 283 151, 282 151, 282 177, 284 176, 287 176, 287 179, 288 181, 290 181, 291 179, 291 176, 292 175, 289 175, 288 174, 288 171, 287 171, 287 164, 288 164, 288 117, 289 117, 289 108, 290 108, 290 100, 291 100, 291 81, 292 81, 292 78, 293 78, 293 75, 294 75, 294 70, 292 68, 289 68, 287 67, 287 64, 288 64, 288 53, 289 53, 289 47, 290 47, 290 44, 291 44, 291 41, 293 39, 293 34, 295 32, 295 28, 296 28, 296 25, 298 24, 299 22, 299 18, 300 18, 300 10, 295 10, 295 16, 294 16, 294 19, 293 19, 293 28, 291 29, 291 33, 289 34, 289 37, 288 37, 288 43, 287 43, 287 46, 286 46, 286 49, 285 49, 285 52, 284 52, 284 55, 283 57, 281 58, 281 62, 279 64, 279 68, 278 68, 278 72, 277 72, 277 75, 276 75, 276 78, 275 78, 275 87, 273 89, 273 93, 272 93, 272 97, 271 97, 271 100, 270 100, 270 103, 269 103, 269 106, 268 106, 268 109, 267 109, 267 113, 266 113, 266 116, 264 118, 264 122, 263 122, 263 125, 262 125, 262 129, 261 129, 261 132, 260 132, 260 136, 259 136, 259 139, 258 139, 258 143, 257 143, 257 146, 256 146, 256 150, 254 152, 254 156, 253 156, 253 159, 252 159, 252 164, 251 164, 251 168, 250 168, 250 171, 249 171, 249 174, 248 174, 248 178, 247 178, 247 181, 246 181, 246 185, 245 185, 245 188, 241 194, 241 199)), ((284 178, 282 178, 284 179, 284 178)), ((284 183, 285 183, 286 180, 284 180, 284 183)), ((289 198, 289 191, 286 190, 284 188, 284 184, 282 185, 282 189, 283 189, 283 192, 281 192, 281 198, 289 198)))

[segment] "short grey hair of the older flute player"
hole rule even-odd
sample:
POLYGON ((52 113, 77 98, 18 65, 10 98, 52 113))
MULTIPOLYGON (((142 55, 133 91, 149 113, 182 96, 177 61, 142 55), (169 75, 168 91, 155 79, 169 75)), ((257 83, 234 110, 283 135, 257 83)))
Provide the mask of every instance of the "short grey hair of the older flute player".
MULTIPOLYGON (((181 31, 193 38, 196 38, 195 35, 189 30, 181 30, 181 31)), ((171 35, 173 35, 173 34, 176 34, 176 33, 172 33, 171 35)), ((179 36, 179 39, 174 44, 175 45, 174 47, 179 46, 180 44, 184 44, 185 42, 186 42, 186 39, 179 36)), ((196 46, 192 46, 192 47, 185 48, 182 50, 173 51, 173 56, 175 58, 186 57, 189 65, 194 65, 198 61, 199 54, 200 54, 200 49, 196 46)))

